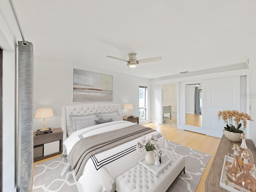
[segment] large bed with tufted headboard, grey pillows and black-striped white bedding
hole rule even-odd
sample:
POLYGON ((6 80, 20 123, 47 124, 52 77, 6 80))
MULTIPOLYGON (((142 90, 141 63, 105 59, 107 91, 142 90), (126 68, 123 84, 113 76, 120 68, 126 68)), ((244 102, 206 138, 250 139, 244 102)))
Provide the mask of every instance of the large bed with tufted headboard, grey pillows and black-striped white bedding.
MULTIPOLYGON (((111 136, 113 135, 110 134, 111 132, 130 131, 132 128, 140 127, 142 126, 122 120, 120 104, 90 103, 64 106, 62 107, 61 123, 64 141, 63 155, 67 155, 67 159, 70 160, 74 150, 80 150, 76 146, 83 138, 86 138, 83 141, 88 142, 87 139, 90 137, 98 138, 98 136, 108 134, 111 136), (88 119, 89 117, 92 119, 88 119), (108 121, 110 119, 112 121, 108 121), (100 121, 99 124, 93 124, 98 121, 100 121), (76 124, 76 128, 74 128, 74 124, 76 124)), ((152 134, 156 135, 161 147, 168 148, 167 141, 159 132, 150 130, 145 135, 150 138, 152 134)), ((140 153, 136 150, 136 144, 140 138, 141 136, 98 154, 93 154, 84 164, 84 168, 80 168, 80 176, 77 176, 75 169, 72 170, 79 192, 114 192, 116 177, 138 164, 138 160, 145 156, 144 152, 140 153)), ((70 164, 64 168, 62 174, 68 168, 70 168, 70 164)))

